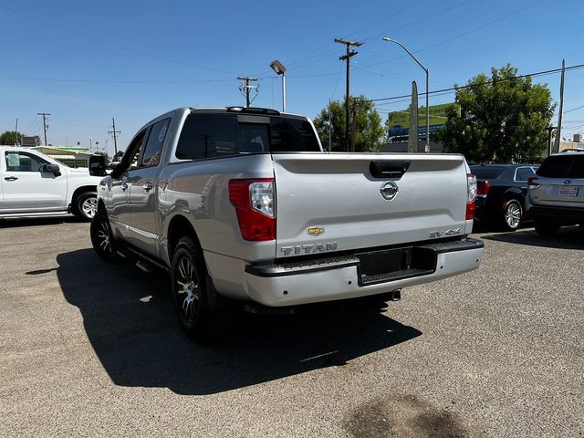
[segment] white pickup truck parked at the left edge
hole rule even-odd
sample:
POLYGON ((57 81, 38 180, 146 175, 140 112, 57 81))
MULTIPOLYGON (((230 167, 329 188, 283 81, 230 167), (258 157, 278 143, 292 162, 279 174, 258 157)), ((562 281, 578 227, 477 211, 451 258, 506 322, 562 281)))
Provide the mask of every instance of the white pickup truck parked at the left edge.
POLYGON ((72 169, 31 149, 0 147, 0 218, 97 212, 100 176, 72 169))

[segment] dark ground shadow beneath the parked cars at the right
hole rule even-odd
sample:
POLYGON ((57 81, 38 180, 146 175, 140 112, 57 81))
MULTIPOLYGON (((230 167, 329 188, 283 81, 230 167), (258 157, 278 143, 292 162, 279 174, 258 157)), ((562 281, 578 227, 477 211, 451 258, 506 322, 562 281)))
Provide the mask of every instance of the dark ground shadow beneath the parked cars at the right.
POLYGON ((558 235, 542 237, 537 235, 533 228, 516 231, 515 233, 502 233, 499 235, 481 235, 481 239, 496 240, 509 244, 541 246, 558 249, 584 249, 584 228, 571 226, 560 228, 558 235))

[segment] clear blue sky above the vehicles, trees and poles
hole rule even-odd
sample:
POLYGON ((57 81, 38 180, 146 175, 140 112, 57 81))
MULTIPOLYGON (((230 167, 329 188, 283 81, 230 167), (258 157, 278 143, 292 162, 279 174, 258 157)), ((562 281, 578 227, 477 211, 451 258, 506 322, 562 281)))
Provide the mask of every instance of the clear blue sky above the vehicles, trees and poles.
MULTIPOLYGON (((424 75, 391 36, 430 69, 430 89, 464 84, 510 62, 519 74, 584 64, 582 0, 402 0, 369 2, 144 2, 0 0, 3 61, 0 131, 42 134, 48 142, 121 148, 142 124, 182 106, 242 105, 235 79, 260 78, 254 106, 281 108, 281 82, 269 68, 287 66, 287 110, 314 118, 342 99, 344 47, 365 41, 351 58, 351 94, 380 99, 423 91, 424 75)), ((559 75, 547 83, 558 100, 559 75)), ((566 73, 563 135, 584 130, 584 69, 566 73)), ((430 104, 454 100, 454 93, 430 104)), ((381 102, 380 102, 381 103, 381 102)), ((407 101, 378 107, 402 110, 407 101)))

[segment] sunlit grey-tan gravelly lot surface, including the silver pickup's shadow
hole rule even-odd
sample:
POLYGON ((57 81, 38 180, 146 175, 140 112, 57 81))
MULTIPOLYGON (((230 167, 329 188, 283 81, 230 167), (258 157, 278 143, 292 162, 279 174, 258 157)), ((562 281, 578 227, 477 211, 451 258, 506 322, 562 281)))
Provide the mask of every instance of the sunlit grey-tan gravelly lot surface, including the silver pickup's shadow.
POLYGON ((400 302, 183 335, 160 272, 89 224, 0 221, 0 436, 584 435, 584 231, 478 233, 483 265, 400 302))

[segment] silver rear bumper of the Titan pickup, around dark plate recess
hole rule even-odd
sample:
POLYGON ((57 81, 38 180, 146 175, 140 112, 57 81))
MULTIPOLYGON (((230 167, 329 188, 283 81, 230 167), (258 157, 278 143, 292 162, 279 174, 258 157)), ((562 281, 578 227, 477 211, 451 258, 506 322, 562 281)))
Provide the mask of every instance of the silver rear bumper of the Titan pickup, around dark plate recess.
POLYGON ((417 248, 433 252, 432 266, 369 276, 367 281, 360 275, 360 256, 344 255, 309 265, 246 266, 245 282, 251 299, 271 307, 365 297, 471 271, 480 265, 483 247, 474 239, 420 245, 417 248))

